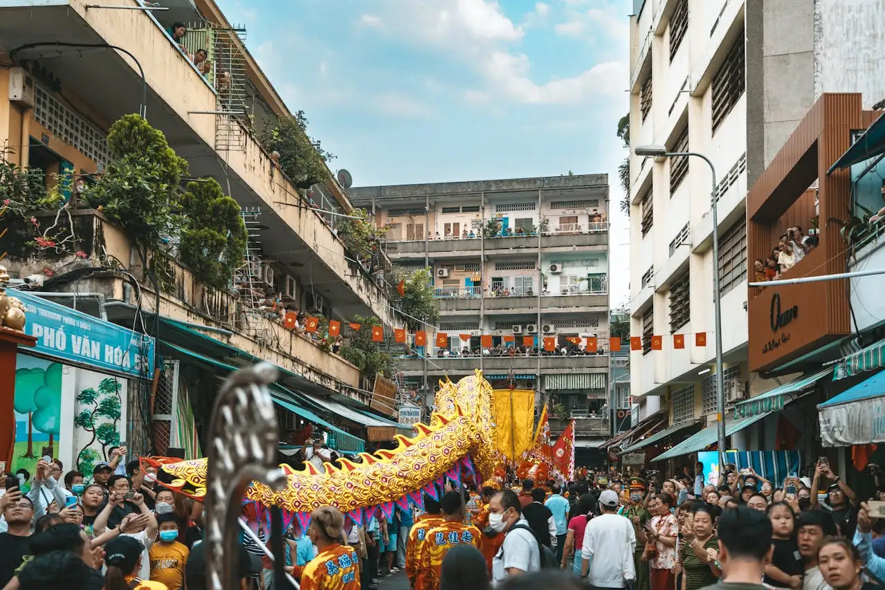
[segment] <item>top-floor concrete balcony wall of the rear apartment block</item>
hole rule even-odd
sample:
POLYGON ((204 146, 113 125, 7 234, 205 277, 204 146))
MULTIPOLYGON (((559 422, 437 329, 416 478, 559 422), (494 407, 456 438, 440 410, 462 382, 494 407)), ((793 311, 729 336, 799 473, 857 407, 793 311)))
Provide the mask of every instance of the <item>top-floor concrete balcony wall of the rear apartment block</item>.
MULTIPOLYGON (((603 251, 609 246, 608 224, 599 226, 594 231, 561 232, 543 234, 541 248, 545 255, 563 254, 577 251, 603 251)), ((486 238, 485 253, 487 256, 501 254, 535 253, 538 251, 537 235, 513 235, 506 237, 486 238)), ((480 238, 450 238, 442 240, 389 241, 385 247, 388 257, 395 262, 406 260, 423 260, 427 256, 435 260, 480 256, 482 245, 480 238)))

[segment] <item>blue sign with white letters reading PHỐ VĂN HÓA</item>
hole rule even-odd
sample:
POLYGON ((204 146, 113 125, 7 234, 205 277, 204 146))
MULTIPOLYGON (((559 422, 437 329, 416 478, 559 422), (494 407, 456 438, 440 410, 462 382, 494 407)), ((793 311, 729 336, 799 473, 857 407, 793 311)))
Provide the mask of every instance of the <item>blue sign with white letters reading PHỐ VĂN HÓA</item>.
POLYGON ((9 289, 6 295, 25 304, 25 333, 37 339, 35 352, 133 377, 153 375, 154 339, 150 336, 27 291, 9 289))

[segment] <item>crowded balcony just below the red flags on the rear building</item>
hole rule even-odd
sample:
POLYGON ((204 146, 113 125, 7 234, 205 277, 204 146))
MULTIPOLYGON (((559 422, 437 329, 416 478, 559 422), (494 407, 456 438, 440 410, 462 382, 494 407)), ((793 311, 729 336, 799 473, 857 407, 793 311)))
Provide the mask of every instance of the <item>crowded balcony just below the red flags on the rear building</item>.
MULTIPOLYGON (((485 356, 482 359, 482 370, 487 373, 501 374, 511 370, 514 373, 537 375, 539 369, 542 375, 558 374, 563 372, 604 372, 609 371, 608 355, 587 356, 485 356)), ((434 378, 449 375, 466 375, 480 368, 479 356, 429 356, 423 358, 397 358, 396 364, 405 377, 417 377, 424 374, 424 364, 427 362, 427 375, 434 378)))

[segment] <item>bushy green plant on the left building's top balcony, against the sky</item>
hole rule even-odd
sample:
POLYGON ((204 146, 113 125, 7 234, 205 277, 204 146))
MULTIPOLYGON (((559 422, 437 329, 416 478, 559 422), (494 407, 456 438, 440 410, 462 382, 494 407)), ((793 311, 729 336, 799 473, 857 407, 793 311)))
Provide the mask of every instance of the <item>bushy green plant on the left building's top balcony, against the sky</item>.
POLYGON ((332 177, 326 162, 334 156, 315 145, 307 134, 304 111, 293 117, 271 120, 258 134, 258 141, 267 151, 280 154, 280 166, 298 188, 311 188, 332 177))

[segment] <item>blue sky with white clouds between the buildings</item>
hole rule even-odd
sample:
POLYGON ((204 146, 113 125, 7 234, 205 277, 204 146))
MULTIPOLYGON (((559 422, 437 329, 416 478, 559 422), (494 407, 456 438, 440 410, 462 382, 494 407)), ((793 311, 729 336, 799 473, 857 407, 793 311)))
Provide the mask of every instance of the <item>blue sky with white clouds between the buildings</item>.
POLYGON ((608 173, 612 307, 627 301, 631 0, 217 1, 355 186, 608 173))

